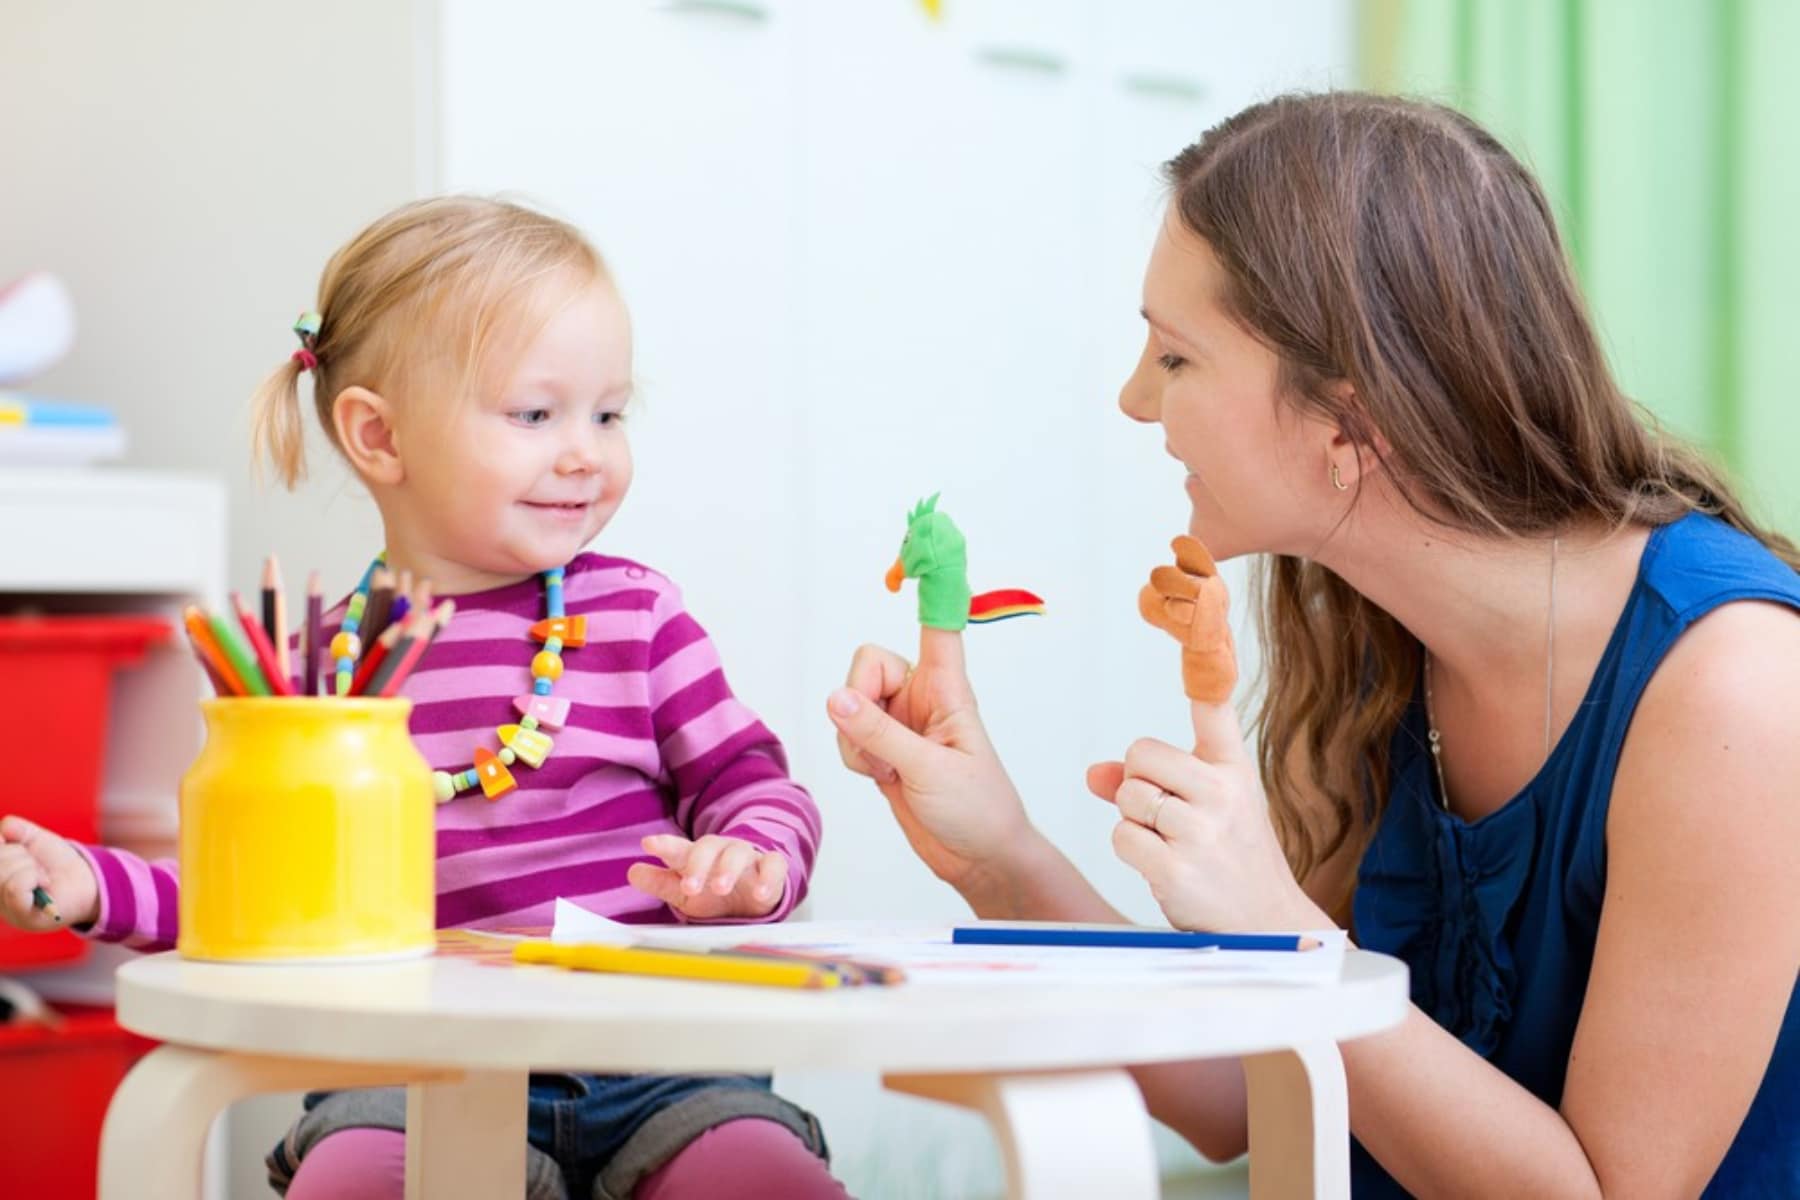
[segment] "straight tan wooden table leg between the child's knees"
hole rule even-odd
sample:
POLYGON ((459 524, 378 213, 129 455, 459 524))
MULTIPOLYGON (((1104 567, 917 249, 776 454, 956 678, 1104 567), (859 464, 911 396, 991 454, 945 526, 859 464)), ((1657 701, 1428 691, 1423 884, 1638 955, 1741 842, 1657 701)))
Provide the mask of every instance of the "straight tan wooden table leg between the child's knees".
POLYGON ((407 1088, 407 1200, 526 1195, 524 1070, 464 1070, 407 1088))

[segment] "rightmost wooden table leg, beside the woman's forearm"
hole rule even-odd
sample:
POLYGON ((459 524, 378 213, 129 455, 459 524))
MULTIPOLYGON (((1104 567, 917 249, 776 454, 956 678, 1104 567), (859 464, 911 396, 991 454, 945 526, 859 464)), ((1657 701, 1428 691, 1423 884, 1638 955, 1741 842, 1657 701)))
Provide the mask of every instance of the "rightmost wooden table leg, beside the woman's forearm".
POLYGON ((1251 1200, 1350 1195, 1350 1099, 1336 1042, 1244 1060, 1251 1200))

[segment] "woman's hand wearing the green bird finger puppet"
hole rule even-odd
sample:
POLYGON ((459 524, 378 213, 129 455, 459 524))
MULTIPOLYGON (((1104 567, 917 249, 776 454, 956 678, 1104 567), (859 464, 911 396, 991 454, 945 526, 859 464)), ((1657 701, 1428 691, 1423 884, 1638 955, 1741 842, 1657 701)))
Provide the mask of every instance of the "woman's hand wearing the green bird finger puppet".
POLYGON ((826 712, 844 766, 887 797, 932 874, 965 896, 1026 847, 1031 822, 976 712, 963 635, 920 630, 918 666, 864 646, 826 712))

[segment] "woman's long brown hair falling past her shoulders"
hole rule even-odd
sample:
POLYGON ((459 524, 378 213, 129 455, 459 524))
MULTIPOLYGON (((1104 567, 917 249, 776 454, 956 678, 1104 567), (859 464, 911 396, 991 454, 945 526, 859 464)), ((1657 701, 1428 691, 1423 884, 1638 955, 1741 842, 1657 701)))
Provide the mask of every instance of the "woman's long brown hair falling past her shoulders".
MULTIPOLYGON (((1800 569, 1607 369, 1532 175, 1469 117, 1357 92, 1240 112, 1166 166, 1282 390, 1375 453, 1418 513, 1481 536, 1712 513, 1800 569), (1348 381, 1350 389, 1341 385, 1348 381)), ((1296 876, 1372 828, 1418 640, 1318 563, 1258 565, 1264 786, 1296 876), (1301 783, 1330 813, 1300 810, 1301 783)))

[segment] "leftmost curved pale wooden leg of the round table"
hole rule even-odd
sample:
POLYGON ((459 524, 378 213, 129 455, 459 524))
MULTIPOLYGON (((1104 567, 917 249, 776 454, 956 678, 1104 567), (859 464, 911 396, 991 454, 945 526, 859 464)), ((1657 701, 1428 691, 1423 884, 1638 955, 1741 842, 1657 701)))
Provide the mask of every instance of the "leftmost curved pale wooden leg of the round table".
POLYGON ((452 1076, 454 1072, 428 1067, 328 1063, 158 1045, 131 1067, 106 1108, 99 1196, 194 1200, 200 1195, 207 1132, 225 1108, 247 1096, 383 1087, 452 1076))

